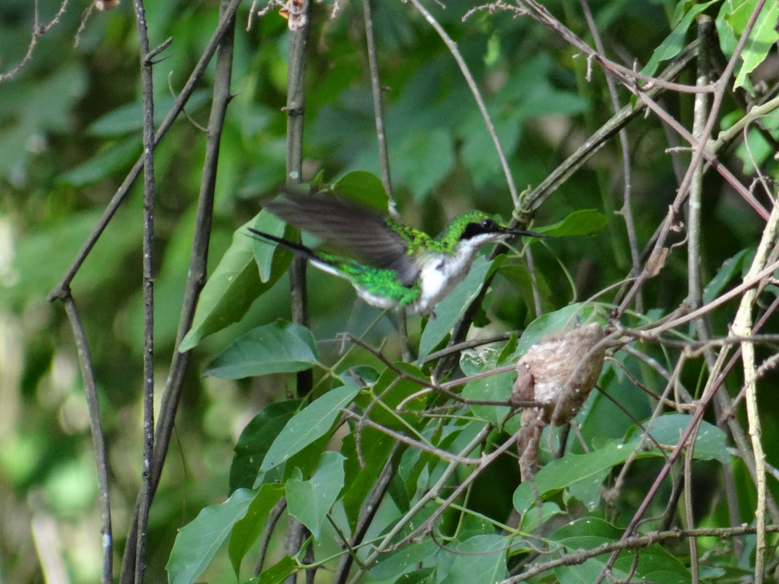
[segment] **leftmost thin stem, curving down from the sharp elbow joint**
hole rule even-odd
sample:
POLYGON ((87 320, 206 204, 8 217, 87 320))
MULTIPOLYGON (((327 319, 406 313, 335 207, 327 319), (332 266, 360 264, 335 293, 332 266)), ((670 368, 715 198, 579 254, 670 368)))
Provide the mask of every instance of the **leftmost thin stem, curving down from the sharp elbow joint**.
POLYGON ((86 340, 78 308, 76 308, 76 301, 69 294, 65 297, 64 304, 70 326, 73 329, 73 336, 76 338, 76 350, 79 354, 81 378, 86 392, 86 408, 90 417, 90 433, 95 450, 95 463, 97 463, 100 519, 103 522, 103 526, 100 528, 100 533, 103 534, 103 575, 100 582, 112 584, 114 582, 114 533, 111 529, 111 498, 108 493, 108 453, 105 447, 103 424, 100 422, 100 400, 95 385, 92 353, 86 340))

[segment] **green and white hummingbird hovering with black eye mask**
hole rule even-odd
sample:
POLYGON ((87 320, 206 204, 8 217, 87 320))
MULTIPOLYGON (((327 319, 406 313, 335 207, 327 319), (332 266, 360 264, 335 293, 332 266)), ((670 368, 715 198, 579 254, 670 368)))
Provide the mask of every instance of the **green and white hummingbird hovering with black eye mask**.
POLYGON ((460 213, 438 237, 430 237, 325 191, 305 195, 287 189, 265 208, 346 255, 313 250, 250 227, 256 239, 282 245, 315 268, 348 280, 372 306, 432 316, 436 304, 467 276, 482 245, 522 235, 547 237, 507 227, 478 210, 460 213))

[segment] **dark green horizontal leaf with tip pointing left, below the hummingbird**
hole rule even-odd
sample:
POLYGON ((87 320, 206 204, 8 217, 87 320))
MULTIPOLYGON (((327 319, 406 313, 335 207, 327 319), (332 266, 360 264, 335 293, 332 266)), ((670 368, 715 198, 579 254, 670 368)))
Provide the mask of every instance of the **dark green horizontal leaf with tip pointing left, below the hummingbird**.
POLYGON ((258 326, 235 339, 206 368, 206 375, 240 379, 305 371, 319 363, 311 331, 289 322, 258 326))

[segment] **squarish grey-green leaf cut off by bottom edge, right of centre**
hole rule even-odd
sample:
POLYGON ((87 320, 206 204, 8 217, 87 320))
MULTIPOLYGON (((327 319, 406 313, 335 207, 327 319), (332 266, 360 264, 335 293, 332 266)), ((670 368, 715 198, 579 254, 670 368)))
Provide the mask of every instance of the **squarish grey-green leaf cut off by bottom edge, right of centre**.
POLYGON ((443 584, 500 582, 508 577, 506 568, 507 537, 482 535, 453 545, 456 554, 443 584), (492 552, 492 553, 491 553, 492 552))

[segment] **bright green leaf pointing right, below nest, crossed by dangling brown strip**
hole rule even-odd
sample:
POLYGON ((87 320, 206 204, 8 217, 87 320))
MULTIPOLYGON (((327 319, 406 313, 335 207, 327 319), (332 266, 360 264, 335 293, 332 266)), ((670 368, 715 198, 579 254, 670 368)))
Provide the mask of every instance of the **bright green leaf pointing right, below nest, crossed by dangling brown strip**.
MULTIPOLYGON (((535 476, 534 482, 538 489, 538 496, 543 499, 545 494, 559 491, 603 470, 610 469, 612 466, 624 462, 633 450, 633 445, 609 444, 587 454, 567 454, 562 459, 552 460, 535 476)), ((536 495, 530 481, 516 487, 513 502, 514 508, 520 514, 523 515, 527 512, 527 509, 535 501, 536 495)))

